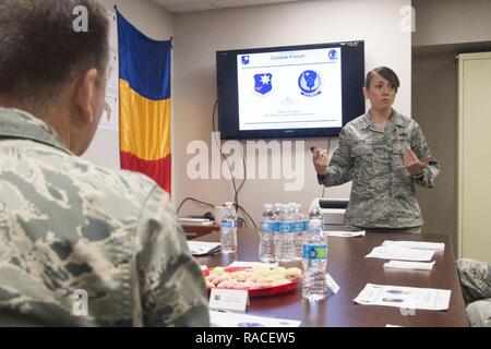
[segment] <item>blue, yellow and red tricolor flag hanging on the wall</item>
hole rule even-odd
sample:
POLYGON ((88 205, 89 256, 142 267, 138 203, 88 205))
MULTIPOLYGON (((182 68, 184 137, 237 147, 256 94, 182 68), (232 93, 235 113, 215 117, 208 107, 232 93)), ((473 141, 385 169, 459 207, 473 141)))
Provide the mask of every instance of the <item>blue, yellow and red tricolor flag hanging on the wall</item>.
POLYGON ((170 193, 170 40, 156 41, 118 12, 121 168, 170 193))

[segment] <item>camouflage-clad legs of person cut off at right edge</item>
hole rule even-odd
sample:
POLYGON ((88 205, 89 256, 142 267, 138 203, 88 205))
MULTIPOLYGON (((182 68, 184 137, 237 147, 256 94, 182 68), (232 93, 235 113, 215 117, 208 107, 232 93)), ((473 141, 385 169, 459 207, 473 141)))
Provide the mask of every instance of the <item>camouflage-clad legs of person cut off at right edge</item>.
POLYGON ((491 327, 491 264, 458 260, 457 270, 470 326, 491 327))

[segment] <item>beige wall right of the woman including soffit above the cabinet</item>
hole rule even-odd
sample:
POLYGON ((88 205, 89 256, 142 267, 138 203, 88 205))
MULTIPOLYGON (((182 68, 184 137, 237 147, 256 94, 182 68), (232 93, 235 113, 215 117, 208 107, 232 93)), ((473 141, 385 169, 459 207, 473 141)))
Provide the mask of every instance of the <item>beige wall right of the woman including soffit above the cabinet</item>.
POLYGON ((423 232, 448 234, 457 255, 455 56, 491 51, 491 1, 417 0, 414 4, 412 112, 442 167, 433 189, 418 190, 423 232))

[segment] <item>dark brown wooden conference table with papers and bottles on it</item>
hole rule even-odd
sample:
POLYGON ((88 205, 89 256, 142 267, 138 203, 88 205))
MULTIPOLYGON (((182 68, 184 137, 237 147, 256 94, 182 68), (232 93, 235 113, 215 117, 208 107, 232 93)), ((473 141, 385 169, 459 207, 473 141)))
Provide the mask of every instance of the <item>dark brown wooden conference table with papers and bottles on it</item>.
MULTIPOLYGON (((199 237, 196 241, 219 241, 219 233, 199 237)), ((238 230, 238 251, 197 257, 201 265, 227 266, 233 261, 256 262, 259 233, 254 229, 238 230)), ((300 266, 300 264, 298 265, 300 266)), ((369 233, 362 238, 328 238, 327 273, 340 286, 319 303, 304 302, 300 286, 296 291, 263 298, 251 298, 249 314, 301 321, 301 326, 468 326, 452 244, 446 236, 369 233), (431 272, 384 269, 386 262, 364 256, 384 240, 444 242, 445 251, 436 252, 431 272), (423 287, 452 290, 447 311, 416 310, 414 315, 398 308, 360 305, 354 299, 368 284, 423 287)))

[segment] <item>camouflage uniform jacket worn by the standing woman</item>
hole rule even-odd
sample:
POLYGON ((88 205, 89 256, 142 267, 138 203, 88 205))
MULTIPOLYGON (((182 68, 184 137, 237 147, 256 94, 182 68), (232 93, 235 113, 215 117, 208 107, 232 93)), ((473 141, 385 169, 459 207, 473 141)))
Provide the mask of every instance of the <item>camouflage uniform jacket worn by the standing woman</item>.
POLYGON ((421 160, 431 157, 418 123, 395 110, 385 132, 375 129, 368 112, 343 128, 327 173, 318 177, 326 186, 352 180, 345 224, 366 228, 423 224, 415 183, 433 186, 440 166, 432 158, 422 176, 411 176, 404 166, 408 147, 421 160))

